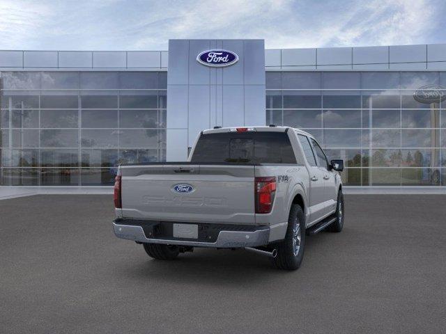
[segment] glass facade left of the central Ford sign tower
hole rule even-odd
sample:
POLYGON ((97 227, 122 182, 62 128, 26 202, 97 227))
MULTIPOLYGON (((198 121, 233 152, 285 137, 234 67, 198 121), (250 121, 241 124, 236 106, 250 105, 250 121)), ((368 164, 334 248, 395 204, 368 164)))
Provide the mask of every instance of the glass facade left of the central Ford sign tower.
POLYGON ((165 160, 167 72, 1 72, 0 180, 111 185, 165 160))

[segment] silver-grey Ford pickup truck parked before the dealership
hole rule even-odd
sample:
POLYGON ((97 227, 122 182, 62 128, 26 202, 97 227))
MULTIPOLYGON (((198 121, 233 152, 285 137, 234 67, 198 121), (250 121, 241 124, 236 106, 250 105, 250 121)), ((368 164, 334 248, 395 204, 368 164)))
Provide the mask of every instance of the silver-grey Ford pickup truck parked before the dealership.
POLYGON ((298 269, 306 234, 342 230, 343 168, 292 127, 204 130, 187 162, 118 167, 114 233, 160 260, 245 248, 298 269))

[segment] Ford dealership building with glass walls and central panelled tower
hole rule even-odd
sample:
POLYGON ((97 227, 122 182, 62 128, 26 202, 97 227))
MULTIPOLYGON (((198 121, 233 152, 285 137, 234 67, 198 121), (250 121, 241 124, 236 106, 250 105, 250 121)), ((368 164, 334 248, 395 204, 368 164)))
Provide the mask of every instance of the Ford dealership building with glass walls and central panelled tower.
POLYGON ((445 87, 446 44, 0 51, 0 185, 109 186, 118 164, 184 161, 202 129, 275 124, 344 159, 347 186, 445 190, 445 87))

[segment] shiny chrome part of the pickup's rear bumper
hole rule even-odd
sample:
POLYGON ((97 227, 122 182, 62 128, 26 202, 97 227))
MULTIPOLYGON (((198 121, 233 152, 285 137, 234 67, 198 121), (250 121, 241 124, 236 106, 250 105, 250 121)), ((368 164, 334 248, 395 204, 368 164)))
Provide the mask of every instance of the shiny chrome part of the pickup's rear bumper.
POLYGON ((141 226, 119 225, 113 223, 116 237, 148 244, 169 244, 180 246, 212 247, 212 248, 238 248, 255 247, 268 244, 270 237, 269 227, 259 227, 259 230, 246 231, 220 231, 215 242, 201 242, 189 240, 149 239, 141 226))

